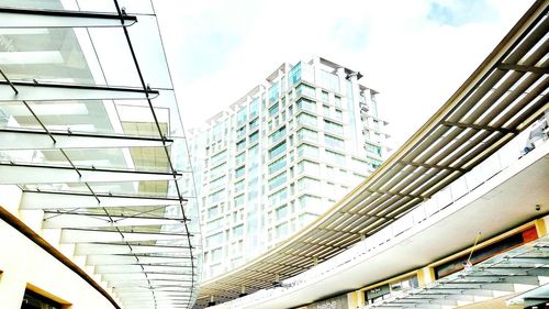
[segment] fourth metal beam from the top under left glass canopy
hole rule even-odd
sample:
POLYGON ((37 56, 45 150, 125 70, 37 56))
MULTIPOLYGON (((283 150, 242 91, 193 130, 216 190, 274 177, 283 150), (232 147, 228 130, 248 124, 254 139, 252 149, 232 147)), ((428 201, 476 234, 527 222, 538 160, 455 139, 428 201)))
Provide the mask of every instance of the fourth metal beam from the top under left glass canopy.
MULTIPOLYGON (((181 176, 181 174, 176 174, 181 176)), ((167 172, 142 172, 40 164, 0 163, 0 185, 173 180, 167 172), (80 174, 80 175, 79 175, 80 174)))

